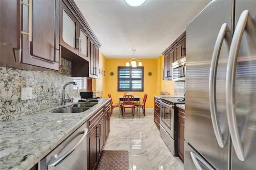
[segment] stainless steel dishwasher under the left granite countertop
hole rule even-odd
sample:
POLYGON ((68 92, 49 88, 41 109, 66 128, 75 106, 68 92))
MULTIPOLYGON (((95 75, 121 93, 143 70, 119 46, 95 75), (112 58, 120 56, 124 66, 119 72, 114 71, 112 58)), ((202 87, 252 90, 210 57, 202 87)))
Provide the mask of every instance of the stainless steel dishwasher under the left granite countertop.
POLYGON ((40 160, 40 170, 87 169, 87 123, 40 160))

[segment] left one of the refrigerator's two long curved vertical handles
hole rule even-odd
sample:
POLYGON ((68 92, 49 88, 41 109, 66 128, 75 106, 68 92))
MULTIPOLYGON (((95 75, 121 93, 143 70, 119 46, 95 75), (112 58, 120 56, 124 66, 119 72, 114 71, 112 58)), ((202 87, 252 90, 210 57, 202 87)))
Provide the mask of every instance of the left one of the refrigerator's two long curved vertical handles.
POLYGON ((219 34, 217 36, 216 43, 214 45, 214 50, 212 53, 212 62, 210 66, 209 75, 209 100, 210 100, 210 113, 212 118, 212 126, 214 129, 214 134, 216 136, 217 142, 221 148, 224 148, 224 139, 220 131, 220 126, 217 119, 217 105, 216 105, 216 73, 218 67, 218 60, 220 56, 220 49, 222 42, 225 38, 226 32, 228 31, 227 23, 222 24, 220 27, 219 34))

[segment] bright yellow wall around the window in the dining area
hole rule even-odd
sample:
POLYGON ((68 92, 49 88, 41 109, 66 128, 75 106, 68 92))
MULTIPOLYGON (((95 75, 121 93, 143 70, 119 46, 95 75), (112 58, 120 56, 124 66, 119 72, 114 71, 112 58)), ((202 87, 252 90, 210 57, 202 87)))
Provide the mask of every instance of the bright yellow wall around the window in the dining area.
MULTIPOLYGON (((103 91, 103 97, 108 97, 108 93, 111 94, 114 103, 118 103, 118 96, 123 95, 124 92, 117 91, 117 67, 125 66, 128 59, 106 59, 106 57, 99 52, 99 68, 100 71, 105 71, 104 75, 99 75, 99 79, 92 80, 92 89, 103 91), (110 76, 110 72, 114 75, 110 76)), ((144 91, 133 92, 134 95, 141 97, 143 100, 144 94, 148 94, 146 101, 146 108, 154 108, 154 95, 160 95, 160 91, 165 91, 165 86, 170 93, 174 94, 174 82, 162 80, 162 65, 164 64, 164 56, 161 55, 157 59, 139 59, 142 61, 144 67, 144 91), (152 72, 152 76, 148 75, 148 72, 152 72)), ((137 63, 138 64, 138 63, 137 63)))

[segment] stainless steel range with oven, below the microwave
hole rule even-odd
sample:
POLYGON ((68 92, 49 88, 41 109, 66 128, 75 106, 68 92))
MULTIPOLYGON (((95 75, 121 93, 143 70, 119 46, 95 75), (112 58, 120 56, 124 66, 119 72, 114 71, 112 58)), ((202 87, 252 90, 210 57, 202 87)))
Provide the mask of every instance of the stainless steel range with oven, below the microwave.
POLYGON ((174 156, 178 156, 177 150, 177 115, 176 104, 185 103, 184 98, 161 97, 160 98, 160 136, 174 156))

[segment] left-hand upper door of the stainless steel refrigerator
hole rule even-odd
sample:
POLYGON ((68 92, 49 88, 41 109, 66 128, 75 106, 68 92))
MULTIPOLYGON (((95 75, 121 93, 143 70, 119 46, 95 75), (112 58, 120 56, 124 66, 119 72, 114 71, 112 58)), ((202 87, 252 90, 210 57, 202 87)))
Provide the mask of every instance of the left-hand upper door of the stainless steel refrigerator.
MULTIPOLYGON (((229 162, 225 82, 232 35, 232 3, 232 0, 210 2, 186 28, 185 140, 216 169, 223 170, 228 169, 229 162), (216 82, 212 83, 216 86, 213 88, 216 94, 214 104, 210 103, 209 98, 209 75, 214 46, 221 42, 217 37, 224 23, 228 31, 224 34, 216 62, 218 65, 214 69, 216 71, 216 82), (214 115, 211 115, 210 105, 215 105, 216 113, 212 113, 214 115), (216 117, 215 122, 212 121, 212 117, 216 117)), ((184 155, 184 167, 189 167, 186 165, 188 163, 186 156, 188 154, 184 155)))

